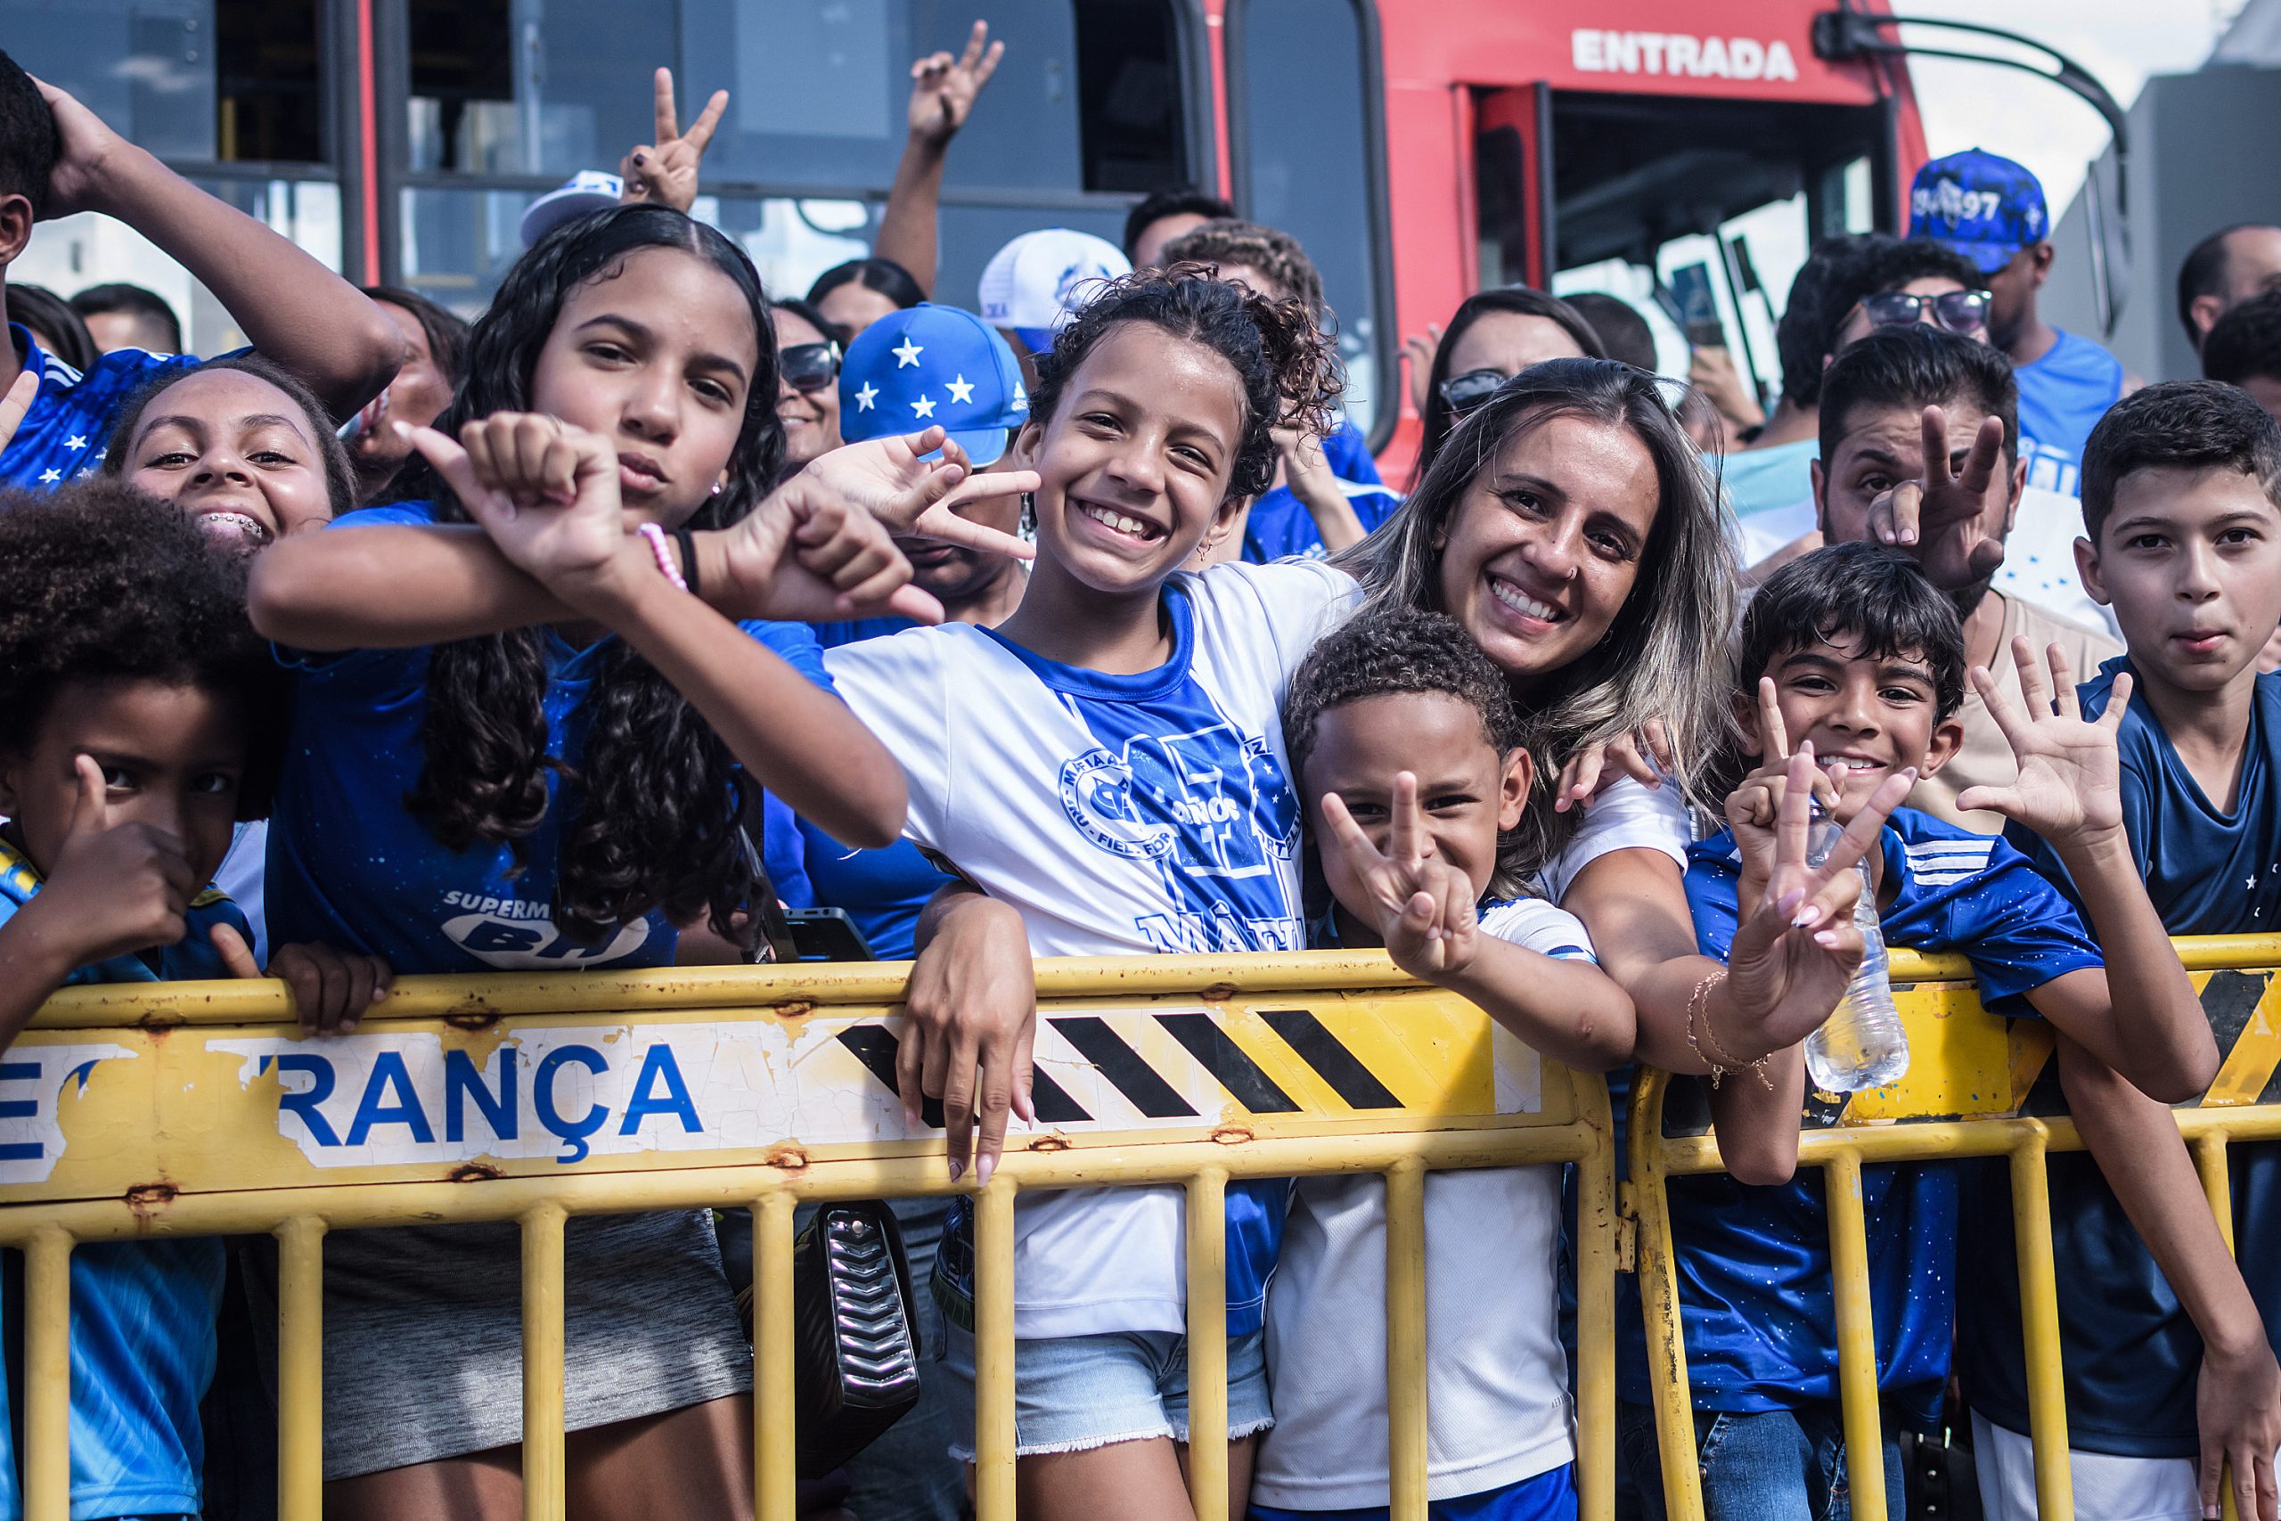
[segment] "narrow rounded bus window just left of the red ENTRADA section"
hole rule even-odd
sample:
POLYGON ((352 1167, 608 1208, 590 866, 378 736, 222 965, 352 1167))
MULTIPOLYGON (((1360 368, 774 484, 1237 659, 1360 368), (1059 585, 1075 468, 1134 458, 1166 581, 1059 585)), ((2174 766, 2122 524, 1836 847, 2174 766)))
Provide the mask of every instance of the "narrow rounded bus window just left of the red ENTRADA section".
POLYGON ((1236 0, 1227 9, 1236 205, 1300 239, 1323 271, 1346 415, 1394 424, 1394 337, 1375 100, 1375 27, 1364 0, 1236 0))

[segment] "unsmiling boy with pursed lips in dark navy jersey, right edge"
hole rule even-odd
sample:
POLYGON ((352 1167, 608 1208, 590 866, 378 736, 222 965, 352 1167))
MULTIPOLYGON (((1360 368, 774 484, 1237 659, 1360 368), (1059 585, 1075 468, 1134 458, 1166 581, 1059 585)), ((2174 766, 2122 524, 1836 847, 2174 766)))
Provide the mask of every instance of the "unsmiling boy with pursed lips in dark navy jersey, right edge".
MULTIPOLYGON (((2258 650, 2281 623, 2281 424, 2213 381, 2151 385, 2114 406, 2083 456, 2083 584, 2128 652, 2080 689, 2114 730, 2130 857, 2172 935, 2281 926, 2281 677, 2258 650)), ((2078 903, 2076 862, 2007 835, 2078 903)), ((2256 999, 2206 994, 2240 1031, 2256 999)), ((2174 1117, 2062 1040, 2060 1079, 2092 1156, 2051 1158, 2064 1270, 2060 1345, 2076 1516, 2215 1516, 2219 1469, 2245 1519, 2272 1521, 2281 1446, 2281 1145, 2231 1149, 2233 1245, 2210 1218, 2174 1117), (2096 1158, 2096 1163, 2092 1161, 2096 1158), (2133 1229, 2133 1225, 2137 1229, 2133 1229), (2151 1254, 2149 1254, 2151 1247, 2151 1254), (2233 1256, 2254 1263, 2245 1284, 2233 1256)), ((2251 1085, 2263 1085, 2263 1079, 2251 1085)), ((2035 1514, 2012 1211, 1971 1177, 1957 1370, 1989 1516, 2035 1514)))

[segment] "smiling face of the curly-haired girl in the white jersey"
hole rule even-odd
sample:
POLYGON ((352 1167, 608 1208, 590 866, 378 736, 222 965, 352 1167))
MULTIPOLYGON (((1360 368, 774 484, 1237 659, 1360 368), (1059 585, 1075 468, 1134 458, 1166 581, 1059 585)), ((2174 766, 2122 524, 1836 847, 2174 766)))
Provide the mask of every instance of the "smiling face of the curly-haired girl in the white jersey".
POLYGON ((1154 588, 1223 511, 1243 445, 1236 367, 1152 322, 1102 335, 1015 454, 1038 470, 1038 556, 1102 593, 1154 588))

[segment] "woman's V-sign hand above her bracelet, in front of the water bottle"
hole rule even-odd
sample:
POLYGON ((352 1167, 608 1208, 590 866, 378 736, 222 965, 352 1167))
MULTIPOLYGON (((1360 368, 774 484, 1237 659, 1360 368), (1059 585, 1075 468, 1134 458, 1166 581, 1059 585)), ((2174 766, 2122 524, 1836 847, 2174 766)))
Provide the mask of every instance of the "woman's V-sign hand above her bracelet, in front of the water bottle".
MULTIPOLYGON (((1813 798, 1813 746, 1800 746, 1784 773, 1775 853, 1756 901, 1743 898, 1727 953, 1727 1003, 1743 1022, 1718 1042, 1731 1051, 1781 1051, 1811 1035, 1845 997, 1861 967, 1861 933, 1852 926, 1861 876, 1886 816, 1909 796, 1916 771, 1884 778, 1820 867, 1807 864, 1813 798)), ((1706 1015, 1708 1017, 1708 1015, 1706 1015)))

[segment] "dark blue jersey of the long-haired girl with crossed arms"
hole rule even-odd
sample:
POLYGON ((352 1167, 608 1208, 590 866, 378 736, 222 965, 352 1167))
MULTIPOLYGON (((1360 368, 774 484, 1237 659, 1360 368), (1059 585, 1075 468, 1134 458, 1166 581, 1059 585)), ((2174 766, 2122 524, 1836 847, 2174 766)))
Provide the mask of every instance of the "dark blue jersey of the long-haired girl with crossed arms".
MULTIPOLYGON (((331 531, 431 522, 427 504, 374 506, 331 531)), ((753 639, 830 686, 805 623, 746 623, 753 639)), ((586 741, 586 686, 607 648, 573 648, 543 632, 547 755, 577 766, 586 741)), ((269 940, 322 940, 367 951, 397 971, 666 967, 680 940, 664 912, 579 942, 554 926, 554 857, 561 848, 561 775, 547 775, 545 819, 520 844, 452 851, 404 807, 427 750, 429 648, 283 654, 294 670, 285 766, 269 816, 269 940)), ((780 814, 798 862, 789 812, 780 814)))

